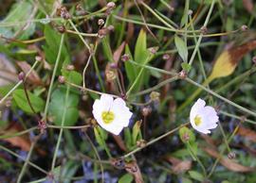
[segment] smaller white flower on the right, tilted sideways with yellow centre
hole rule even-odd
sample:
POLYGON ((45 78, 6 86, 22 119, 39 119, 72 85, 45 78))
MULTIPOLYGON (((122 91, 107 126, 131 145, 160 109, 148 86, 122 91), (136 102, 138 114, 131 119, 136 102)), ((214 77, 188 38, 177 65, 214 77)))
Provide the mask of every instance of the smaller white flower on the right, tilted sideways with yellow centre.
POLYGON ((199 98, 192 106, 190 120, 195 130, 208 134, 210 133, 209 129, 217 126, 219 117, 214 108, 206 106, 206 102, 199 98))

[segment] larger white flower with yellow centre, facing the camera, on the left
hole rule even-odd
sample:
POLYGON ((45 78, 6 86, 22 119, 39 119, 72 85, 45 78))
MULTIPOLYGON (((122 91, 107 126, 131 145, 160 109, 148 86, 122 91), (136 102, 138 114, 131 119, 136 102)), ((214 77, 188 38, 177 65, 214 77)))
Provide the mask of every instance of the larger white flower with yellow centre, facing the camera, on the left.
POLYGON ((93 104, 93 116, 105 130, 119 135, 123 127, 129 125, 133 113, 121 98, 113 99, 111 95, 102 94, 93 104))

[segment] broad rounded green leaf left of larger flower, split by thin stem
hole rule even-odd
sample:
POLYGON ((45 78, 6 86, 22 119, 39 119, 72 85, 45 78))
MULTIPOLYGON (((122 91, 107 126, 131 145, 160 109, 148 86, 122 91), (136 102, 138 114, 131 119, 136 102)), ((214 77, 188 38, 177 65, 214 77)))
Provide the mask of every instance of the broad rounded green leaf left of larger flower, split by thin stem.
POLYGON ((54 124, 62 125, 64 108, 67 108, 64 125, 75 125, 79 118, 78 103, 79 96, 69 92, 65 106, 65 90, 57 89, 53 91, 49 103, 49 115, 53 118, 54 124))

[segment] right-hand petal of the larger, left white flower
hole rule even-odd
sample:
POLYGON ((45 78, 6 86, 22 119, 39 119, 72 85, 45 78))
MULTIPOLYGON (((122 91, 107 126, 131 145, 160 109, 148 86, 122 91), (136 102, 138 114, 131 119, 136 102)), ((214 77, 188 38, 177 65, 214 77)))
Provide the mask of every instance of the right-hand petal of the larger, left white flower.
POLYGON ((112 109, 118 124, 125 127, 128 126, 133 113, 126 107, 124 100, 121 98, 115 99, 112 109))

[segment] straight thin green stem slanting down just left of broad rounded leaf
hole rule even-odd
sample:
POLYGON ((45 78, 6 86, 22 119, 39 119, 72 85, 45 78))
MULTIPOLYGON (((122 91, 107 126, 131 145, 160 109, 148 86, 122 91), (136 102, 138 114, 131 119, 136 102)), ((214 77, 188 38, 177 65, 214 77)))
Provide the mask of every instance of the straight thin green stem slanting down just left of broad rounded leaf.
POLYGON ((56 58, 53 73, 52 73, 51 80, 50 80, 49 90, 48 90, 48 93, 47 93, 46 108, 45 108, 44 117, 43 117, 44 121, 46 121, 46 119, 47 119, 47 112, 48 112, 48 108, 49 108, 49 100, 50 100, 50 96, 51 96, 51 91, 52 91, 55 75, 57 73, 57 69, 58 69, 58 66, 59 66, 60 59, 61 59, 63 45, 64 45, 64 34, 62 35, 62 38, 61 38, 58 55, 57 55, 57 58, 56 58))

